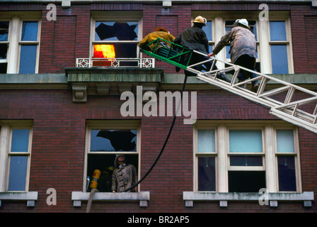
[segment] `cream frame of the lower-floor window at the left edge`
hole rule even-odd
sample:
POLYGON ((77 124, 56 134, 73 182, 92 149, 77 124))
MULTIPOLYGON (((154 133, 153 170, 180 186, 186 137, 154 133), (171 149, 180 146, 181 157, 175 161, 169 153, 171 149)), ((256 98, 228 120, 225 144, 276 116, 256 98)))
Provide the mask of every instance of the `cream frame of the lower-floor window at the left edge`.
POLYGON ((0 121, 0 192, 28 192, 30 179, 30 162, 32 153, 33 123, 31 121, 0 121), (13 129, 28 129, 28 152, 11 152, 13 129), (8 191, 10 161, 12 156, 27 156, 27 169, 25 173, 25 189, 21 191, 8 191))

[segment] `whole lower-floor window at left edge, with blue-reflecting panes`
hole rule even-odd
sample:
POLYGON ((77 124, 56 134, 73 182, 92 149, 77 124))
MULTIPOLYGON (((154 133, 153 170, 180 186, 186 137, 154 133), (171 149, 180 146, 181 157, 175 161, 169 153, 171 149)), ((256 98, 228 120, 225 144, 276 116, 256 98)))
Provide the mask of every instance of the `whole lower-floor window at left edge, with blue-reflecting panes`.
POLYGON ((30 123, 1 123, 0 140, 0 179, 3 179, 0 192, 28 192, 32 148, 30 123))

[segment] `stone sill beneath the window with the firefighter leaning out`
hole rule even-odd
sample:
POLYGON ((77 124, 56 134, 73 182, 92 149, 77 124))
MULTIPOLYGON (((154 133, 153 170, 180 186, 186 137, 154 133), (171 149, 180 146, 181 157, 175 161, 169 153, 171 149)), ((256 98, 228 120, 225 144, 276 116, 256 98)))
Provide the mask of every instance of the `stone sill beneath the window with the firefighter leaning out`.
MULTIPOLYGON (((75 207, 81 207, 81 201, 88 201, 89 192, 71 192, 75 207)), ((147 207, 150 192, 96 192, 93 201, 139 201, 140 207, 147 207)))

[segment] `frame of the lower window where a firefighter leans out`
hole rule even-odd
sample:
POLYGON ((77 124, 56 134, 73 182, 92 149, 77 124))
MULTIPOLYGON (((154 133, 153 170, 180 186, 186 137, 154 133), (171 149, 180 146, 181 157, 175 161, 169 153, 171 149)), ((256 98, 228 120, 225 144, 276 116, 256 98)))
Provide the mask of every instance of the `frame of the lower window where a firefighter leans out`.
MULTIPOLYGON (((88 120, 86 121, 86 140, 85 140, 85 157, 83 167, 83 191, 86 192, 87 171, 88 171, 88 155, 138 155, 138 179, 141 167, 141 122, 138 120, 88 120), (94 151, 91 152, 91 130, 93 129, 135 129, 137 130, 137 150, 135 152, 127 151, 94 151)), ((140 187, 140 185, 138 186, 140 187)), ((139 192, 139 188, 138 188, 139 192)))

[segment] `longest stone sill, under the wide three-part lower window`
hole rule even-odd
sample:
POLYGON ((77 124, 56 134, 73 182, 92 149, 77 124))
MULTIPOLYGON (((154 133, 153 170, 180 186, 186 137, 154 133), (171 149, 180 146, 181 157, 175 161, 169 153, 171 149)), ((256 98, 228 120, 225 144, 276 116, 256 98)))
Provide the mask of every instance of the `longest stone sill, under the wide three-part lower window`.
POLYGON ((219 206, 228 206, 228 201, 264 201, 271 207, 277 207, 277 201, 304 201, 305 207, 311 207, 313 192, 292 193, 237 193, 237 192, 183 192, 186 207, 194 206, 194 201, 219 201, 219 206))

